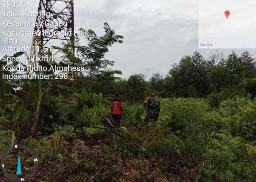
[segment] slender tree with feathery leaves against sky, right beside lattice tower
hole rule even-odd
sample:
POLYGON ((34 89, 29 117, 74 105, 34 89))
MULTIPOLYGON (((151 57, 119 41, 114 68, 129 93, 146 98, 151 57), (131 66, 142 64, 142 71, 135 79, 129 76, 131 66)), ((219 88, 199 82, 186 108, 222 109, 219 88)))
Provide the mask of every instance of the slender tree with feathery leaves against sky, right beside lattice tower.
POLYGON ((71 62, 80 63, 81 66, 85 67, 85 71, 80 71, 78 74, 83 78, 83 84, 87 88, 88 93, 92 90, 92 86, 96 81, 96 75, 99 75, 102 70, 113 66, 115 63, 105 59, 108 47, 115 43, 123 43, 123 36, 115 35, 115 31, 107 23, 104 23, 104 31, 105 35, 98 37, 93 30, 89 29, 85 36, 88 42, 87 46, 80 46, 80 39, 76 36, 76 46, 74 48, 78 57, 72 54, 72 44, 70 43, 66 44, 64 48, 58 48, 65 53, 65 57, 71 62))

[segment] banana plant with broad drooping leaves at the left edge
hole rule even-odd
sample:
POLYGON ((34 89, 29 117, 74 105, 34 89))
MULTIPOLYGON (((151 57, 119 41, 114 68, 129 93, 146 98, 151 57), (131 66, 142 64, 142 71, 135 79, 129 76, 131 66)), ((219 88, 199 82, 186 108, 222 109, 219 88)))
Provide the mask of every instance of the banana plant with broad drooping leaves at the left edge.
MULTIPOLYGON (((18 52, 14 54, 12 57, 18 57, 24 54, 24 52, 18 52)), ((51 52, 48 53, 48 57, 51 57, 51 52)), ((6 56, 8 57, 8 56, 6 56)), ((3 70, 3 66, 18 66, 19 62, 13 62, 8 64, 3 59, 0 62, 0 76, 3 78, 3 75, 9 74, 18 74, 17 72, 8 72, 3 70)), ((21 64, 21 63, 20 63, 21 64)), ((55 62, 43 62, 43 66, 49 68, 51 65, 57 64, 55 62)), ((60 66, 66 66, 66 64, 73 65, 73 63, 58 63, 60 66)), ((22 65, 19 65, 22 66, 22 65)), ((31 74, 26 71, 25 74, 31 74)), ((49 71, 37 71, 35 74, 52 74, 54 77, 54 72, 49 71)), ((59 92, 64 98, 69 99, 70 95, 77 93, 78 91, 74 88, 66 87, 59 85, 56 80, 8 80, 8 79, 0 79, 0 109, 2 118, 5 115, 5 111, 8 107, 8 104, 16 102, 16 106, 13 112, 13 119, 15 123, 19 120, 24 110, 30 111, 30 132, 31 135, 34 136, 35 132, 38 130, 40 124, 43 124, 43 108, 46 104, 56 102, 57 100, 53 98, 53 94, 59 92), (18 100, 16 95, 12 94, 13 88, 20 88, 26 96, 29 98, 28 100, 18 100)), ((0 122, 1 119, 0 118, 0 122)), ((0 123, 1 124, 1 123, 0 123)))

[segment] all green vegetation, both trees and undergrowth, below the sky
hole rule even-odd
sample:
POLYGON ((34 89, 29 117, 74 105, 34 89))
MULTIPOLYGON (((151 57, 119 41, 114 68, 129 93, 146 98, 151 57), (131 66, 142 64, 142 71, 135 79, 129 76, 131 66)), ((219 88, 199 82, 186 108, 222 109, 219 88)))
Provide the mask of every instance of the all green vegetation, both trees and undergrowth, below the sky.
POLYGON ((207 60, 195 52, 165 78, 122 80, 104 55, 123 37, 108 24, 104 30, 76 47, 79 58, 70 44, 62 50, 67 64, 87 67, 75 73, 76 88, 54 79, 0 80, 1 149, 14 143, 34 149, 38 181, 256 181, 256 64, 248 52, 228 58, 216 52, 207 60), (142 101, 150 90, 161 112, 157 123, 145 125, 142 101), (119 130, 107 119, 116 91, 125 112, 119 130))

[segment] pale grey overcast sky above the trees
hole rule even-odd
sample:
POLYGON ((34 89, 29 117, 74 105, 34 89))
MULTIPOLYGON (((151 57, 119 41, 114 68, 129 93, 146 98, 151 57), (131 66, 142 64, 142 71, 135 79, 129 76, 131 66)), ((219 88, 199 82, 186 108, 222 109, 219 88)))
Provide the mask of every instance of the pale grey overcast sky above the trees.
MULTIPOLYGON (((30 11, 37 11, 39 0, 26 3, 30 11)), ((215 52, 198 49, 198 1, 87 0, 91 23, 86 1, 74 0, 74 3, 75 29, 92 28, 100 36, 104 33, 104 22, 114 29, 122 22, 116 34, 124 36, 124 43, 111 47, 106 58, 115 61, 112 69, 121 70, 123 78, 138 73, 150 78, 156 72, 165 76, 171 65, 185 55, 199 51, 207 58, 210 52, 215 52)), ((11 18, 3 18, 7 19, 11 18)), ((19 45, 23 44, 29 46, 31 37, 19 39, 19 45)), ((232 49, 219 51, 228 55, 232 49)), ((256 50, 248 51, 256 55, 256 50)))

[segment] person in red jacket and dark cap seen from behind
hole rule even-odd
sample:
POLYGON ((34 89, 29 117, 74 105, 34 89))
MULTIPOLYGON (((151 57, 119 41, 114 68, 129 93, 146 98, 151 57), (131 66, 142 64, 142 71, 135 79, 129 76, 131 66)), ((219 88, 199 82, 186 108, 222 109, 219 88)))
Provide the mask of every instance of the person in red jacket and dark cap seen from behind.
POLYGON ((120 127, 120 121, 123 116, 123 102, 118 92, 115 93, 115 98, 111 101, 111 114, 117 126, 120 127))

